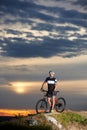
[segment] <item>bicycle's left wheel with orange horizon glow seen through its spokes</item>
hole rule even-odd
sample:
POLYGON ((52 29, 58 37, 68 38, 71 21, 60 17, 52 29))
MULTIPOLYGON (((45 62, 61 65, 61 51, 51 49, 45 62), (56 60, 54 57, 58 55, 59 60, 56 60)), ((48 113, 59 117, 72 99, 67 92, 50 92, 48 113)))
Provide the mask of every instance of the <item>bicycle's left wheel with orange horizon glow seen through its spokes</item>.
POLYGON ((44 99, 40 99, 36 103, 36 113, 45 113, 47 110, 47 102, 44 99))

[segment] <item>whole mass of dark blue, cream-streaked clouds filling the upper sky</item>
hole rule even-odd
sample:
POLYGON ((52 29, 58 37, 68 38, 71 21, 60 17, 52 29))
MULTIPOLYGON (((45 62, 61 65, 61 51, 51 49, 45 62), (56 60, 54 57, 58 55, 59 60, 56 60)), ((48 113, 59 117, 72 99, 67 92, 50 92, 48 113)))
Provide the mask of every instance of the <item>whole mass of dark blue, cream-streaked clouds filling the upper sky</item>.
POLYGON ((0 54, 16 58, 86 54, 84 6, 85 1, 76 0, 1 0, 0 54))

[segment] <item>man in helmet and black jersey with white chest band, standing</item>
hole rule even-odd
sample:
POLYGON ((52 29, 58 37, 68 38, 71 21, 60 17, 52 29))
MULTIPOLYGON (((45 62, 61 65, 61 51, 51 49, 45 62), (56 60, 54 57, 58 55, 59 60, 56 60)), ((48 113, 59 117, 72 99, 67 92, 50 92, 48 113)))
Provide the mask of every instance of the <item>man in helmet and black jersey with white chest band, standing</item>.
POLYGON ((50 106, 50 111, 53 112, 54 105, 55 105, 55 88, 57 86, 57 78, 55 77, 54 71, 49 71, 49 77, 45 79, 45 81, 42 84, 41 90, 43 91, 44 84, 48 85, 48 91, 47 91, 47 101, 50 106), (51 103, 52 99, 52 103, 51 103))

